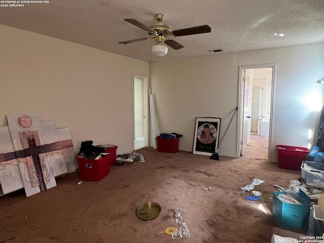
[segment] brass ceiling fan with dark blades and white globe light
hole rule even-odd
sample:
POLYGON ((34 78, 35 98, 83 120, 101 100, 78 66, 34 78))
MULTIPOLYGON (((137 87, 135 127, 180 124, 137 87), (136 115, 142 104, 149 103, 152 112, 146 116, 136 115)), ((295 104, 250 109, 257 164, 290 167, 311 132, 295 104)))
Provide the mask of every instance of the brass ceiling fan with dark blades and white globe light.
POLYGON ((146 39, 155 38, 156 44, 152 46, 151 51, 152 54, 161 57, 167 55, 168 53, 168 47, 165 44, 167 44, 169 47, 173 48, 174 50, 179 50, 183 48, 183 46, 175 42, 172 39, 172 37, 211 32, 211 27, 209 27, 208 25, 200 25, 191 28, 172 30, 172 27, 169 24, 161 23, 164 20, 164 17, 165 16, 163 14, 156 14, 154 18, 158 22, 150 25, 149 27, 140 23, 136 19, 124 19, 126 22, 129 22, 131 24, 136 25, 137 27, 140 27, 141 29, 146 30, 148 34, 151 35, 152 37, 132 39, 131 41, 118 42, 118 43, 127 45, 133 42, 140 42, 140 41, 145 41, 146 39))

